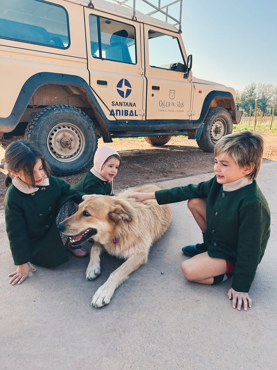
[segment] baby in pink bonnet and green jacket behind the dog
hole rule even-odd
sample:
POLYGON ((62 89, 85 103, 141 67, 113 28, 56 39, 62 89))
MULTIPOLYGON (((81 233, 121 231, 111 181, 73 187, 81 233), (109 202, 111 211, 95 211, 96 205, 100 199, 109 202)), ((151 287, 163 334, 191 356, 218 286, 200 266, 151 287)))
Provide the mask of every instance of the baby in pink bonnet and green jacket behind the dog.
POLYGON ((113 178, 121 163, 119 154, 112 148, 102 147, 96 150, 93 167, 85 177, 72 186, 72 189, 85 194, 113 194, 113 178))

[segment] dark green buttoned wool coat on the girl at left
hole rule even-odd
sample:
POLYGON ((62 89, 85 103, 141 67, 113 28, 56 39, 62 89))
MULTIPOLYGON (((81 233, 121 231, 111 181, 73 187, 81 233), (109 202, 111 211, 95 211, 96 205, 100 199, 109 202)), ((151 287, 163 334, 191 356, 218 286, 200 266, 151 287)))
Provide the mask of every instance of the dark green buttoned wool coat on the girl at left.
POLYGON ((72 198, 82 201, 84 193, 70 189, 65 181, 50 176, 48 186, 31 194, 8 186, 4 197, 6 230, 15 265, 31 262, 55 267, 67 262, 55 218, 61 206, 72 198))

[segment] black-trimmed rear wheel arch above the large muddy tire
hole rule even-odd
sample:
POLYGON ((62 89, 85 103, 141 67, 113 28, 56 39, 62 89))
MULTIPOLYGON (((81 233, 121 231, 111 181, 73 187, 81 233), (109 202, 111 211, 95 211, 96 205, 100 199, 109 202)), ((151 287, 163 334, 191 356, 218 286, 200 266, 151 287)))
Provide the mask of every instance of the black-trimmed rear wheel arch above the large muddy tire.
POLYGON ((30 121, 29 109, 36 113, 45 106, 55 104, 72 105, 83 110, 97 121, 96 126, 99 126, 97 129, 106 142, 112 142, 104 112, 88 83, 80 76, 50 72, 37 73, 28 78, 21 88, 10 116, 0 118, 0 131, 11 132, 19 122, 30 121), (49 92, 52 99, 47 97, 49 92), (54 96, 59 98, 56 97, 53 101, 54 96), (70 102, 69 97, 72 99, 70 102), (28 108, 28 105, 34 108, 28 108))

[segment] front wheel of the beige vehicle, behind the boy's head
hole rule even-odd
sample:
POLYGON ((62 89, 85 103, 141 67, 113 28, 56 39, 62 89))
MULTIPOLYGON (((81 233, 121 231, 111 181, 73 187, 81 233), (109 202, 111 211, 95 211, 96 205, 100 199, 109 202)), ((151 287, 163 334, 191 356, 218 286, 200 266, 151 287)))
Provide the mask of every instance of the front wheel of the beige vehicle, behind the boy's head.
POLYGON ((218 140, 233 131, 232 117, 225 108, 214 107, 209 109, 204 122, 201 137, 196 142, 204 152, 213 152, 218 140))

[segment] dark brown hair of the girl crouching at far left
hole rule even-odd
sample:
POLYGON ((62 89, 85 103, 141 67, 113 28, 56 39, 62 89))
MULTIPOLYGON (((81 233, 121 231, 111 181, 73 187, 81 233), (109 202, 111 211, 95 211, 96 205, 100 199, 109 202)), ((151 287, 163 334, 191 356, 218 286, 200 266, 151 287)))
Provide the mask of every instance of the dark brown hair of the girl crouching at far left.
POLYGON ((41 151, 32 142, 28 140, 18 140, 8 145, 4 157, 4 168, 9 171, 5 179, 5 186, 10 185, 12 182, 10 171, 23 171, 24 175, 30 176, 31 186, 34 188, 35 179, 33 172, 38 159, 42 161, 45 174, 48 177, 51 176, 51 168, 45 161, 41 151))

